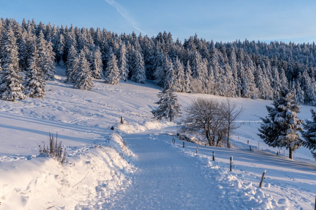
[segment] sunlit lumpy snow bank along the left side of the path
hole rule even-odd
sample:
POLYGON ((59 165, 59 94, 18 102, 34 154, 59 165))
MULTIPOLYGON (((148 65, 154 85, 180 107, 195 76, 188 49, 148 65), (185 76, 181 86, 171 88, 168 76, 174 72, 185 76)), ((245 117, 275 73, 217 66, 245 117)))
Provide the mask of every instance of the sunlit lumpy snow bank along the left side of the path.
POLYGON ((0 209, 93 208, 131 183, 134 155, 119 135, 77 153, 64 167, 44 157, 0 163, 0 209))

